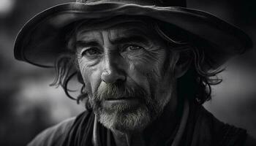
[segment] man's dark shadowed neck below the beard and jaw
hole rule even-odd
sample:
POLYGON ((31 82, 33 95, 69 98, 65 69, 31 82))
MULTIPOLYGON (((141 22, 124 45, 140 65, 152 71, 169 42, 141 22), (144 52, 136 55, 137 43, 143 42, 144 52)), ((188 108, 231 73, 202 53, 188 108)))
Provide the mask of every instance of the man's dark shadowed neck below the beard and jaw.
POLYGON ((174 96, 165 109, 162 115, 159 116, 143 131, 121 133, 120 131, 113 131, 113 137, 116 145, 120 146, 143 146, 143 145, 164 145, 167 139, 176 133, 176 124, 181 117, 182 106, 178 106, 176 96, 174 96), (175 98, 174 98, 175 97, 175 98))

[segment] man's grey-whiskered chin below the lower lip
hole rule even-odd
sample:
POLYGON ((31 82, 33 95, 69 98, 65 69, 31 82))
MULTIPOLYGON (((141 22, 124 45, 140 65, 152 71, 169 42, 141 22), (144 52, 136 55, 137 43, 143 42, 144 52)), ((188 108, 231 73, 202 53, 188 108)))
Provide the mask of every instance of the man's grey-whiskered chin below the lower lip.
POLYGON ((98 120, 103 126, 112 131, 127 133, 129 131, 143 131, 152 121, 152 116, 147 107, 138 107, 136 110, 96 112, 98 120))

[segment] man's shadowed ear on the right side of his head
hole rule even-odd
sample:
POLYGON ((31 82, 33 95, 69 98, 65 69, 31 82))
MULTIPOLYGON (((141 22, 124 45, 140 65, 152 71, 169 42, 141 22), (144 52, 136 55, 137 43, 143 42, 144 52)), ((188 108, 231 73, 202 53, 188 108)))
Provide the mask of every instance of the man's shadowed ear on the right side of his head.
POLYGON ((189 57, 190 55, 181 55, 181 53, 178 53, 176 55, 178 58, 176 58, 176 65, 174 68, 174 75, 178 79, 179 77, 182 77, 187 70, 189 69, 189 66, 192 62, 192 58, 189 57))

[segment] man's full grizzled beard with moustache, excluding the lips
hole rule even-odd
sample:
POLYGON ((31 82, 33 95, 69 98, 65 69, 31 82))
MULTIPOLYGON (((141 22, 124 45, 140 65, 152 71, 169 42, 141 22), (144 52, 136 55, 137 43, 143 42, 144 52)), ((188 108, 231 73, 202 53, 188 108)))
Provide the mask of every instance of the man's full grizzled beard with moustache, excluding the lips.
POLYGON ((146 126, 162 114, 164 107, 170 101, 170 98, 167 97, 171 96, 172 90, 169 85, 165 88, 169 88, 169 90, 162 92, 151 87, 151 93, 147 93, 138 85, 129 86, 129 88, 124 86, 110 88, 110 86, 100 85, 97 93, 93 93, 93 95, 91 93, 91 96, 89 96, 89 103, 97 116, 97 120, 106 128, 122 133, 143 131, 146 126), (102 107, 102 101, 105 99, 120 96, 138 97, 140 98, 140 105, 133 109, 129 109, 127 107, 129 105, 118 105, 110 109, 102 107), (159 100, 158 96, 166 98, 159 100))

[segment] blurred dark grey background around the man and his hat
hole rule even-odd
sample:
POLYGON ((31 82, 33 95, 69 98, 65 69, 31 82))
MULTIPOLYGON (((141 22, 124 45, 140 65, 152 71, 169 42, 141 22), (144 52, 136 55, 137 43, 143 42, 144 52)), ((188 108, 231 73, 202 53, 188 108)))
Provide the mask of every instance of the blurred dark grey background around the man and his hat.
MULTIPOLYGON (((53 69, 42 69, 13 57, 19 29, 38 12, 71 0, 0 0, 0 145, 26 145, 42 129, 78 115, 83 106, 50 87, 53 69)), ((255 0, 188 0, 188 7, 202 9, 242 28, 256 39, 255 0)), ((214 35, 214 34, 213 34, 214 35)), ((204 106, 219 120, 246 128, 256 137, 256 51, 233 58, 219 74, 213 99, 204 106)))

